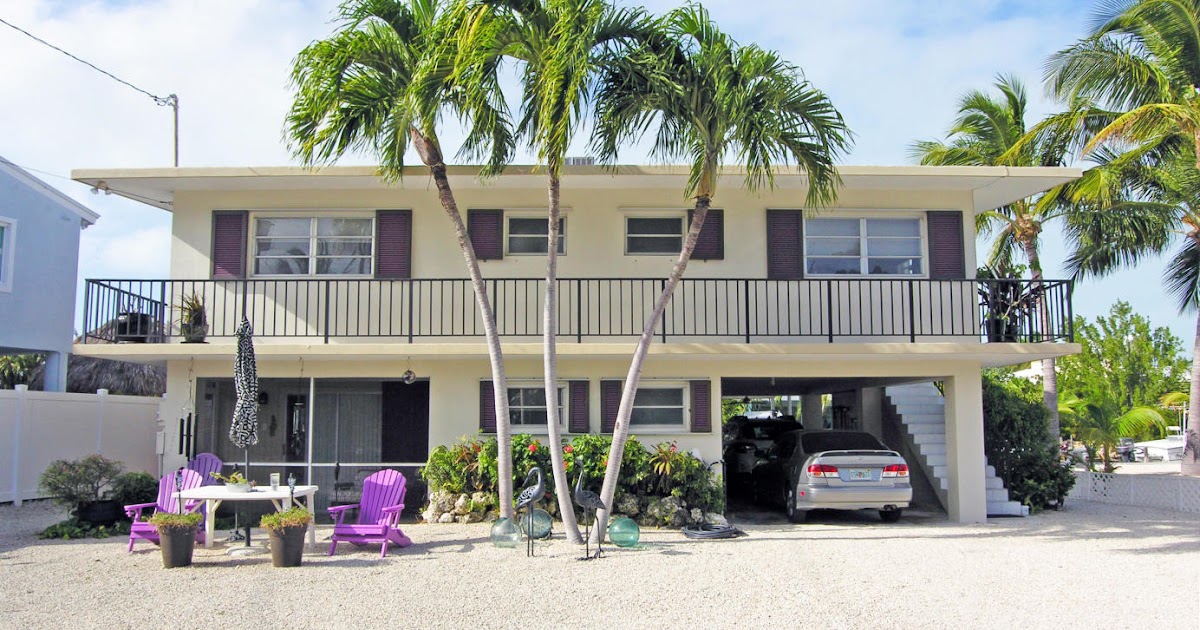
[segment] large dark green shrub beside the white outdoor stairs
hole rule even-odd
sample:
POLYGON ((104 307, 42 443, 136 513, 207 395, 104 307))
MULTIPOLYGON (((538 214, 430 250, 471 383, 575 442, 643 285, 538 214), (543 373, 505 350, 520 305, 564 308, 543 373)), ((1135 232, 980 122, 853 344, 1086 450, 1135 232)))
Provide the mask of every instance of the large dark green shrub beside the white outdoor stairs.
POLYGON ((984 452, 1009 497, 1038 511, 1061 506, 1075 475, 1049 439, 1050 414, 1042 390, 1007 372, 984 371, 984 452))

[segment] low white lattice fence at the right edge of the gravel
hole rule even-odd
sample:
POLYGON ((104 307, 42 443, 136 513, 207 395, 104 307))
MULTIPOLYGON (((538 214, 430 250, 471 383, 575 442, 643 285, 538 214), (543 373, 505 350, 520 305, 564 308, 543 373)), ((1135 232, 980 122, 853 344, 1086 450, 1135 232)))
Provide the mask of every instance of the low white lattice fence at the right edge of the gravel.
POLYGON ((1200 478, 1075 473, 1070 498, 1116 505, 1200 512, 1200 478))

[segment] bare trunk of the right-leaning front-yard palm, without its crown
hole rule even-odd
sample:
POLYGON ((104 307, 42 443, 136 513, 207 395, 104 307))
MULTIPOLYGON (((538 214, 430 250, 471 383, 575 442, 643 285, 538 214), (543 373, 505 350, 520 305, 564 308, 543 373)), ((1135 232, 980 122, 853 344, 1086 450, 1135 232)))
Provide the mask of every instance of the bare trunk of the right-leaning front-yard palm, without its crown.
MULTIPOLYGON (((617 425, 612 431, 612 446, 608 449, 608 466, 605 468, 604 486, 600 488, 600 500, 612 508, 613 497, 617 493, 617 478, 620 475, 620 462, 625 455, 625 443, 629 442, 629 418, 634 413, 634 397, 637 395, 637 384, 642 378, 642 368, 646 365, 646 356, 649 354, 650 343, 654 342, 654 329, 662 319, 667 302, 674 293, 679 278, 688 270, 688 262, 691 260, 691 252, 696 248, 696 240, 700 230, 704 227, 704 218, 708 217, 708 205, 712 202, 707 194, 696 197, 696 209, 692 211, 691 227, 684 239, 679 258, 676 259, 671 276, 667 277, 662 293, 654 302, 654 311, 646 319, 642 328, 642 336, 637 340, 637 349, 634 350, 634 360, 629 365, 629 373, 625 376, 625 388, 620 394, 620 406, 617 408, 617 425)), ((608 511, 596 510, 596 527, 593 536, 600 540, 608 522, 608 511)))

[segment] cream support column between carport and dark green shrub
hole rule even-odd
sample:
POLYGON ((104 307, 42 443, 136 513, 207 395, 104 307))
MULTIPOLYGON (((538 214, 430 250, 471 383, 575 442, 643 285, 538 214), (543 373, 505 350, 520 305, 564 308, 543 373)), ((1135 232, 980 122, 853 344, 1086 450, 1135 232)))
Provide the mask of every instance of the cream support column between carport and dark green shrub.
POLYGON ((984 481, 983 380, 980 366, 966 365, 946 379, 946 466, 950 520, 988 522, 984 481))

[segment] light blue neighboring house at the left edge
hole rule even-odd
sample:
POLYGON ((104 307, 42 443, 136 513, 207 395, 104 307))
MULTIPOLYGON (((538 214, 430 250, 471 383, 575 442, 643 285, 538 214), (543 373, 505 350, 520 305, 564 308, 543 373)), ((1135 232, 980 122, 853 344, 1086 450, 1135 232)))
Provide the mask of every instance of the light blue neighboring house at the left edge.
POLYGON ((0 354, 44 354, 47 391, 66 388, 79 232, 97 218, 0 157, 0 354))

